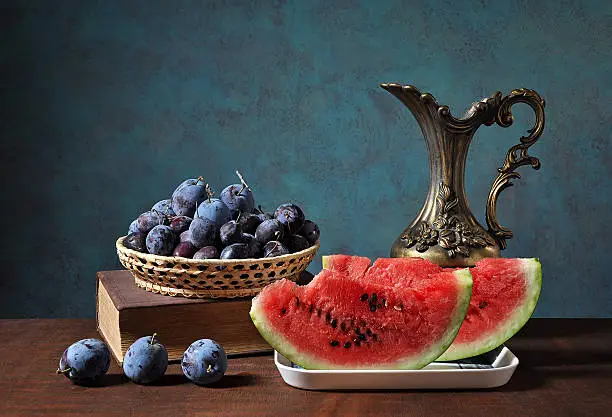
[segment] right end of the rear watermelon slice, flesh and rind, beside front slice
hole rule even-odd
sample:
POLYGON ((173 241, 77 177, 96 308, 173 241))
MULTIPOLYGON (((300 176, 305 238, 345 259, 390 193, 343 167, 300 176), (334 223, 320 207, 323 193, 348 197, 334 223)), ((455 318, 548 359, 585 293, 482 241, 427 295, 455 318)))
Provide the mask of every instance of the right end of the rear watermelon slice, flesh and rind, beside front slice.
POLYGON ((542 266, 537 258, 485 258, 476 262, 471 272, 474 288, 468 314, 439 361, 495 349, 527 323, 538 302, 542 266))

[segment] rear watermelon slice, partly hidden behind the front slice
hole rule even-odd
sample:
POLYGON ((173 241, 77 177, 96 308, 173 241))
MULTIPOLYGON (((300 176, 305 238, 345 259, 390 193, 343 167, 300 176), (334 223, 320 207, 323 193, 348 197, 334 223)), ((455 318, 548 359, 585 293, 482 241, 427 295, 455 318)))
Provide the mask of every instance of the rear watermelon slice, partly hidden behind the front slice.
MULTIPOLYGON (((345 255, 330 255, 328 268, 348 269, 356 261, 345 255)), ((363 262, 363 260, 359 260, 363 262)), ((446 270, 422 258, 380 258, 356 279, 383 285, 412 288, 424 277, 446 270), (396 274, 397 268, 404 274, 396 274)), ((536 258, 485 258, 470 268, 472 299, 459 334, 439 361, 464 359, 488 352, 514 336, 529 320, 542 288, 542 267, 536 258)))

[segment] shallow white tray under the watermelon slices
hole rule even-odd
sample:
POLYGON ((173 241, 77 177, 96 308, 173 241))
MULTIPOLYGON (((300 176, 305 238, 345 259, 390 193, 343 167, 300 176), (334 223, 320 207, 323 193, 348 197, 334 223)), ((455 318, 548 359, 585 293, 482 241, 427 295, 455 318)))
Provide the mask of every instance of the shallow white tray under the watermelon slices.
POLYGON ((274 351, 283 380, 307 390, 478 389, 506 384, 518 358, 503 347, 489 361, 433 362, 416 371, 306 370, 274 351))

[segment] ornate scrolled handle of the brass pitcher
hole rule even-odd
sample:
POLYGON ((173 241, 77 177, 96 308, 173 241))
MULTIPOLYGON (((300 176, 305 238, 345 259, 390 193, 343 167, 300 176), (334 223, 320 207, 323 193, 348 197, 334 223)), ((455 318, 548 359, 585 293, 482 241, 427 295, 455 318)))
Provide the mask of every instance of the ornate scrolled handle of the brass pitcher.
POLYGON ((499 174, 493 181, 491 191, 489 191, 486 212, 487 226, 489 227, 489 233, 495 238, 500 249, 506 249, 506 240, 512 238, 513 233, 497 221, 495 213, 497 198, 504 189, 513 185, 511 182, 513 178, 521 178, 521 174, 515 171, 518 167, 531 165, 533 169, 540 169, 540 160, 527 154, 527 150, 540 138, 544 130, 544 99, 535 91, 527 88, 513 90, 499 102, 495 114, 495 123, 501 127, 511 126, 514 122, 511 107, 516 103, 528 104, 535 112, 536 120, 533 127, 527 131, 529 136, 521 137, 521 143, 508 150, 504 165, 497 169, 499 174))

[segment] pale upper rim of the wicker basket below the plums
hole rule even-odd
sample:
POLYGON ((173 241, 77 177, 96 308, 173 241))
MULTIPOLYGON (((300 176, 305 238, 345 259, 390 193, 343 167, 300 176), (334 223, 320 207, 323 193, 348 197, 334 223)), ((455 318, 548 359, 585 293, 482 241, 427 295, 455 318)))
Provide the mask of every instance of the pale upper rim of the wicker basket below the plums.
POLYGON ((244 258, 244 259, 191 259, 191 258, 183 258, 180 256, 162 256, 162 255, 153 255, 150 253, 138 252, 134 249, 126 248, 123 245, 123 241, 127 236, 120 236, 115 242, 115 247, 118 251, 130 257, 143 258, 152 262, 173 262, 173 263, 181 263, 188 265, 231 265, 235 263, 257 263, 257 262, 282 262, 288 261, 290 259, 310 255, 311 253, 316 254, 321 246, 320 240, 317 240, 314 245, 310 246, 299 252, 289 253, 287 255, 281 256, 272 256, 270 258, 244 258))

